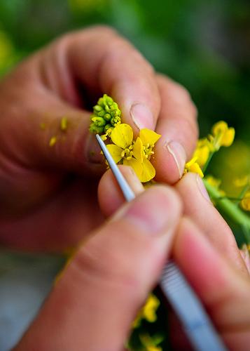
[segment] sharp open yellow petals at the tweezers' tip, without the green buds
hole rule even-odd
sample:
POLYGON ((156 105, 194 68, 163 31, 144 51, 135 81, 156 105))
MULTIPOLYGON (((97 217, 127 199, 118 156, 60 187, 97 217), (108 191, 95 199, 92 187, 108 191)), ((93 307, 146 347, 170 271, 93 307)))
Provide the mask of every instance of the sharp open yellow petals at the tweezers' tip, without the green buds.
POLYGON ((160 135, 149 129, 141 129, 139 137, 133 140, 133 131, 128 124, 118 124, 111 131, 113 144, 107 145, 116 164, 125 164, 134 169, 141 183, 155 177, 155 168, 149 161, 153 147, 160 135))

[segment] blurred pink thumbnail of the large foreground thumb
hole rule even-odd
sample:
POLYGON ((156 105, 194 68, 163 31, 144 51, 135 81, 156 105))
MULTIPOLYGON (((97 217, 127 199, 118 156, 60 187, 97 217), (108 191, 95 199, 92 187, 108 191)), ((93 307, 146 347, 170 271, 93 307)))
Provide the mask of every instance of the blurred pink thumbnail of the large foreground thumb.
POLYGON ((147 234, 164 234, 179 216, 174 200, 172 193, 165 187, 153 186, 137 197, 132 204, 127 204, 118 211, 113 219, 125 218, 147 234))

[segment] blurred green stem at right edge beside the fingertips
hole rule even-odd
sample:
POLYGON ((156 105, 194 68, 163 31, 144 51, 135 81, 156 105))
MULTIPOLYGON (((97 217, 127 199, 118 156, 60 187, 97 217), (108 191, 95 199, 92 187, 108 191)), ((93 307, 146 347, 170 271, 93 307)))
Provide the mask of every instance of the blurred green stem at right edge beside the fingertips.
POLYGON ((233 220, 237 225, 243 226, 246 231, 250 231, 250 217, 246 215, 238 206, 232 201, 227 199, 221 199, 221 194, 216 187, 209 184, 209 182, 204 178, 204 185, 209 192, 212 199, 216 200, 216 208, 223 211, 231 220, 233 220))

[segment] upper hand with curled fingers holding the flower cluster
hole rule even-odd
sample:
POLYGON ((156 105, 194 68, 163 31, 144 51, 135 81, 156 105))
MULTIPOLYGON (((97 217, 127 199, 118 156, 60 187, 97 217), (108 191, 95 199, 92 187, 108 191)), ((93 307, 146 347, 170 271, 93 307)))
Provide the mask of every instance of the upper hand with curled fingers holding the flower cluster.
POLYGON ((118 102, 135 134, 138 126, 162 134, 155 150, 158 180, 179 179, 197 139, 186 90, 155 74, 113 29, 67 34, 0 84, 1 244, 61 250, 102 223, 96 188, 104 162, 88 132, 89 107, 102 93, 118 102), (81 233, 74 230, 79 225, 81 233))

